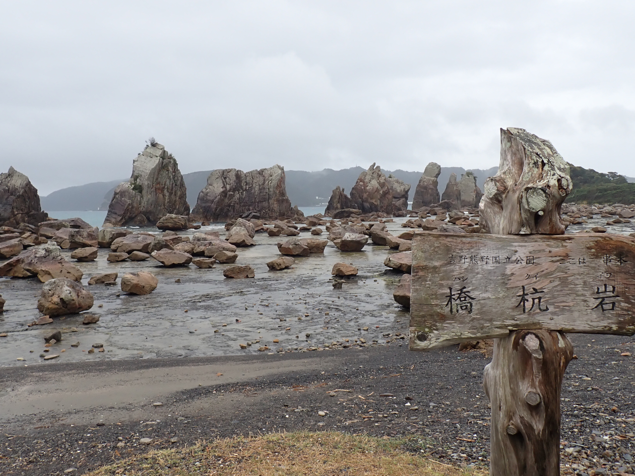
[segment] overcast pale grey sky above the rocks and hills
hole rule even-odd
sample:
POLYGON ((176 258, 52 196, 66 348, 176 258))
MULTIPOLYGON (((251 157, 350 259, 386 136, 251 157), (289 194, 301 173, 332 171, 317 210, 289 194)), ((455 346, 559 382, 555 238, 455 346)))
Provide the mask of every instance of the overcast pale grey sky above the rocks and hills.
MULTIPOLYGON (((635 2, 0 1, 0 169, 498 165, 500 127, 635 176, 635 2)), ((574 184, 575 185, 575 184, 574 184)))

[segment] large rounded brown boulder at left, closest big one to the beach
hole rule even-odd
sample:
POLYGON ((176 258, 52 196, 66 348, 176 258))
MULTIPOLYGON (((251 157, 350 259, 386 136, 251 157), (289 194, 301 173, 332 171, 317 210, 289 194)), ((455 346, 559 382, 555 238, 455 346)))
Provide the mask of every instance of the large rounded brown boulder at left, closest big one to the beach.
POLYGON ((65 278, 50 279, 42 286, 37 300, 37 310, 44 315, 57 317, 78 314, 93 307, 93 294, 75 281, 65 278))

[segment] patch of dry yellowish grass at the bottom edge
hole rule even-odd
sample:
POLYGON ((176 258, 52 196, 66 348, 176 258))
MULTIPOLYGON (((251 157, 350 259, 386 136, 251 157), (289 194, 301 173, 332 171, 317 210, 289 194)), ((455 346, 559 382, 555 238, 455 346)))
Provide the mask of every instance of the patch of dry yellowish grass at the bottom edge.
POLYGON ((122 459, 88 476, 485 476, 425 459, 403 440, 293 432, 200 442, 122 459))

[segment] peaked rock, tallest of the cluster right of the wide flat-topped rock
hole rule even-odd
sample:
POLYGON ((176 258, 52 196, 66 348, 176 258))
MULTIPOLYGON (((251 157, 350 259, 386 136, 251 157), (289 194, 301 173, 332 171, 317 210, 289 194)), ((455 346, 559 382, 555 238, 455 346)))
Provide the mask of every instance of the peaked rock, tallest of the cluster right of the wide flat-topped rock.
POLYGON ((359 178, 351 188, 351 208, 357 208, 362 213, 392 213, 392 190, 388 186, 386 176, 380 166, 375 163, 359 178))

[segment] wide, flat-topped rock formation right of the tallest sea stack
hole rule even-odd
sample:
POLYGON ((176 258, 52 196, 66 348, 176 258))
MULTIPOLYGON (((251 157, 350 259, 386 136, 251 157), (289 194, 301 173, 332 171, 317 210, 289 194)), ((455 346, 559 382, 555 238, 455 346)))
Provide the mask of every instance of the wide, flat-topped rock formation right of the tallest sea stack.
POLYGON ((228 221, 253 210, 265 220, 295 215, 286 195, 283 167, 276 164, 249 172, 213 170, 199 193, 192 217, 199 221, 228 221))

